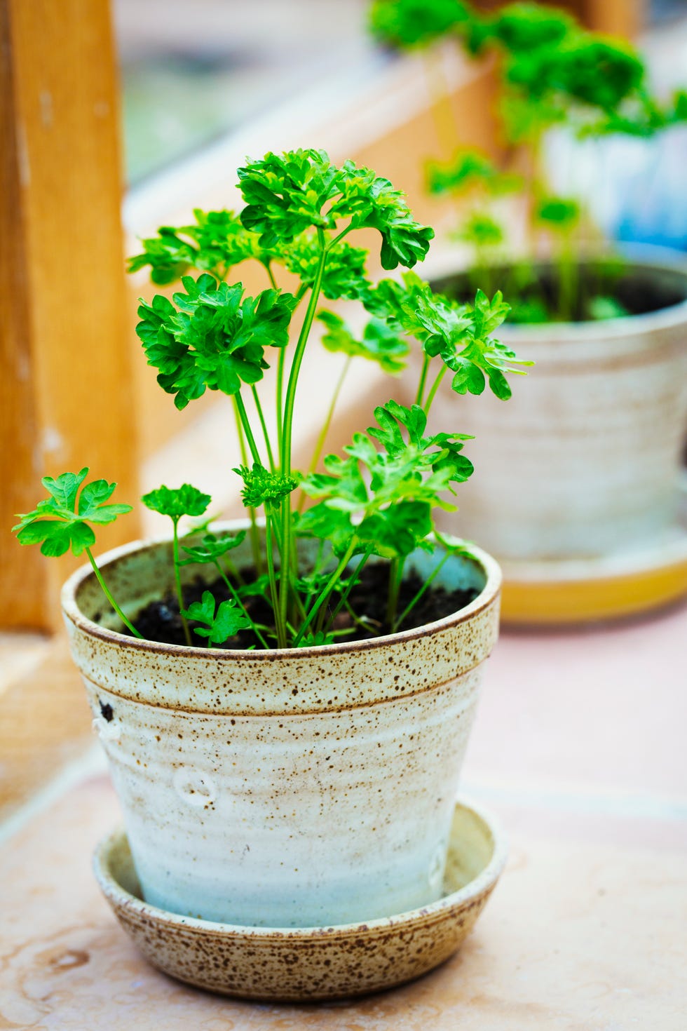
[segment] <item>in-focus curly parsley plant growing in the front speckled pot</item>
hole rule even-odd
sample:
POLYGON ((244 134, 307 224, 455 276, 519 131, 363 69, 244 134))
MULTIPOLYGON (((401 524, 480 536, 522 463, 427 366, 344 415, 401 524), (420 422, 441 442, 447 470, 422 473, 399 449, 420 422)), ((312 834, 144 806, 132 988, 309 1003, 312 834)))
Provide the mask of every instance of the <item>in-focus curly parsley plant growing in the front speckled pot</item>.
MULTIPOLYGON (((251 514, 255 568, 246 583, 231 562, 245 534, 217 536, 206 524, 204 533, 196 531, 191 543, 180 545, 180 521, 203 516, 210 502, 207 494, 183 484, 144 496, 145 505, 172 521, 174 581, 185 640, 191 643, 193 631, 209 646, 250 640, 283 648, 327 644, 358 626, 393 632, 432 580, 400 613, 408 557, 417 548, 433 550, 433 511, 453 507, 448 499, 473 471, 462 454, 469 435, 426 435, 428 412, 446 375, 458 394, 480 394, 488 385, 497 397, 510 396, 508 376, 527 363, 517 362, 494 335, 508 304, 500 293, 488 298, 482 291, 476 292, 474 303, 458 304, 433 293, 410 271, 426 255, 433 230, 413 219, 388 179, 368 168, 351 161, 337 166, 323 151, 303 149, 268 154, 240 168, 238 175, 241 211, 196 210, 193 224, 162 227, 130 261, 132 271, 148 268, 153 284, 180 281, 171 299, 158 294, 141 301, 137 332, 158 383, 177 408, 208 390, 230 400, 242 454, 234 472, 251 514), (376 284, 369 278, 367 251, 349 239, 358 230, 376 233, 382 267, 401 270, 394 277, 376 284), (234 274, 246 261, 264 270, 265 288, 255 296, 234 274), (293 293, 279 288, 281 270, 298 277, 293 293), (337 311, 320 306, 322 298, 357 301, 367 324, 351 330, 337 311), (298 330, 293 331, 297 311, 298 330), (294 418, 313 327, 321 329, 324 347, 346 356, 344 376, 358 360, 396 375, 412 345, 422 350, 423 362, 415 403, 406 407, 389 400, 376 408, 374 425, 354 434, 343 457, 325 457, 323 471, 318 471, 340 378, 304 475, 293 463, 294 418), (271 365, 276 366, 276 381, 269 395, 264 376, 271 365), (245 404, 248 395, 253 417, 245 404), (268 404, 274 405, 276 432, 268 430, 268 404), (304 507, 306 498, 310 507, 304 507), (264 552, 259 511, 265 520, 264 552), (316 550, 307 568, 299 568, 299 538, 310 538, 316 550), (387 564, 389 585, 385 624, 376 627, 366 624, 365 613, 351 603, 373 557, 387 564), (186 606, 181 568, 192 563, 213 566, 229 597, 220 600, 206 590, 201 600, 186 606), (269 618, 257 618, 255 604, 263 612, 267 606, 269 618), (344 628, 336 622, 342 611, 349 624, 344 628)), ((128 510, 104 504, 112 485, 103 480, 84 488, 76 505, 76 478, 70 473, 59 477, 53 501, 22 517, 16 528, 22 543, 42 540, 46 554, 60 554, 70 544, 78 552, 93 543, 90 522, 107 522, 128 510), (43 518, 54 509, 61 520, 55 530, 43 518)), ((44 483, 48 490, 54 486, 47 478, 44 483)), ((456 551, 454 543, 443 543, 447 556, 456 551)))

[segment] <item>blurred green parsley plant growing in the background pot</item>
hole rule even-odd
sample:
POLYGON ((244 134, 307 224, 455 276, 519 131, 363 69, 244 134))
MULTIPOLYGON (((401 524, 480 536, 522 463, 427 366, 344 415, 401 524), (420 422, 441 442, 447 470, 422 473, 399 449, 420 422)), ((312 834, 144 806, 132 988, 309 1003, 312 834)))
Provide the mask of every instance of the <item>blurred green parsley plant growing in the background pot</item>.
MULTIPOLYGON (((496 11, 478 10, 463 0, 372 0, 370 28, 386 44, 423 48, 437 39, 455 40, 473 56, 495 54, 501 76, 501 122, 507 148, 505 168, 483 154, 459 146, 455 126, 438 126, 455 151, 450 160, 428 167, 428 189, 460 198, 466 214, 456 232, 473 253, 471 287, 492 292, 493 269, 504 264, 506 227, 499 199, 524 196, 528 215, 528 254, 510 274, 514 321, 571 321, 626 313, 596 304, 581 290, 574 245, 590 218, 571 198, 555 197, 546 180, 546 133, 566 126, 579 136, 610 133, 649 137, 687 121, 687 94, 661 103, 651 95, 639 54, 628 43, 584 30, 569 13, 546 4, 515 2, 496 11), (525 170, 524 174, 521 170, 525 170), (517 173, 516 173, 517 170, 517 173), (557 266, 557 296, 549 300, 533 267, 538 241, 549 238, 557 266)), ((428 60, 430 70, 435 62, 428 60)), ((445 110, 441 103, 435 111, 445 110)), ((617 264, 599 264, 609 284, 617 264)), ((503 273, 502 273, 503 276, 503 273)), ((600 287, 598 289, 602 289, 600 287)), ((621 306, 620 306, 621 307, 621 306)))

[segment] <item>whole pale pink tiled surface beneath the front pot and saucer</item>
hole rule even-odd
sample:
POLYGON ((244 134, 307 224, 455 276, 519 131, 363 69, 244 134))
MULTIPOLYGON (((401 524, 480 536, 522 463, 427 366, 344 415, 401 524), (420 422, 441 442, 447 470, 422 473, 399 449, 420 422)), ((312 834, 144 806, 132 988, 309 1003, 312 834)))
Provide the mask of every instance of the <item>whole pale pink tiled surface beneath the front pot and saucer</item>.
POLYGON ((506 634, 465 771, 511 858, 461 953, 354 1003, 215 998, 150 968, 90 872, 117 822, 84 778, 0 851, 0 1029, 684 1031, 687 609, 506 634))

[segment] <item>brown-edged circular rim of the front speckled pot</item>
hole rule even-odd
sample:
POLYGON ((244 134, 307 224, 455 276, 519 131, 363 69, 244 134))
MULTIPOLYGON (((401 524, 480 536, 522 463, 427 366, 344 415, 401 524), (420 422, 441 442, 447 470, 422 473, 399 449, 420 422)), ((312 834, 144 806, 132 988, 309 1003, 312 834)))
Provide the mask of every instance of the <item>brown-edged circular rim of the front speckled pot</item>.
MULTIPOLYGON (((247 520, 218 520, 211 525, 217 529, 235 531, 245 529, 249 523, 247 520)), ((456 541, 460 540, 460 538, 451 537, 450 534, 445 534, 445 536, 456 541)), ((125 558, 128 555, 133 555, 136 552, 143 551, 148 547, 153 547, 157 544, 169 543, 171 540, 171 535, 162 535, 143 540, 134 540, 128 544, 122 544, 119 547, 113 547, 99 556, 97 559, 98 567, 100 569, 105 569, 107 565, 115 562, 117 559, 125 558)), ((494 602, 499 592, 501 591, 503 579, 501 566, 494 558, 492 558, 487 552, 484 552, 481 547, 478 547, 470 541, 466 541, 465 543, 470 550, 471 557, 475 559, 486 574, 484 587, 476 598, 474 598, 468 605, 459 608, 456 612, 452 612, 450 616, 445 616, 441 620, 436 620, 434 623, 425 623, 419 627, 413 627, 410 630, 404 630, 400 633, 384 634, 382 636, 363 641, 343 641, 335 644, 314 644, 310 647, 250 650, 210 648, 205 645, 194 647, 193 645, 188 646, 187 644, 167 644, 162 641, 149 641, 145 638, 132 637, 128 634, 122 634, 116 630, 109 630, 107 627, 100 626, 100 624, 95 623, 93 620, 90 620, 87 616, 84 616, 78 607, 76 603, 76 593, 79 587, 88 576, 95 576, 90 563, 85 563, 80 566, 65 581, 61 593, 62 610, 65 619, 68 619, 77 630, 80 630, 90 637, 97 637, 100 640, 109 642, 110 644, 131 647, 136 651, 146 652, 153 655, 175 655, 179 658, 183 658, 184 656, 193 656, 194 658, 202 656, 208 658, 209 656, 212 656, 214 659, 221 662, 231 662, 237 659, 250 659, 251 661, 257 659, 267 662, 274 662, 275 658, 307 659, 332 655, 347 655, 354 652, 368 652, 371 648, 383 647, 385 645, 388 646, 388 644, 396 641, 401 643, 416 640, 419 637, 431 636, 441 632, 442 630, 446 630, 449 627, 458 626, 459 624, 466 623, 468 620, 472 619, 478 612, 488 608, 489 605, 494 602)))

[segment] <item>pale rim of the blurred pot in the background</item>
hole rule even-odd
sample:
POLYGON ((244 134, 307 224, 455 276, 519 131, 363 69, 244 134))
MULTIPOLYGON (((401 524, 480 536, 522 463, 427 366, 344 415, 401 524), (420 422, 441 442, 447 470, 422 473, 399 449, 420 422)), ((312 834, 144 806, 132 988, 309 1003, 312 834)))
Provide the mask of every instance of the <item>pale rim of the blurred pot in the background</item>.
MULTIPOLYGON (((439 253, 434 256, 434 262, 432 260, 427 262, 425 275, 427 281, 436 284, 438 279, 468 271, 465 262, 460 262, 455 251, 450 248, 438 248, 438 251, 439 253)), ((681 275, 685 280, 687 294, 687 255, 672 247, 651 243, 618 243, 613 251, 604 248, 583 251, 577 255, 576 264, 588 265, 603 258, 612 258, 614 254, 625 258, 630 269, 646 268, 655 272, 662 270, 681 275)), ((536 267, 547 268, 554 262, 551 258, 537 258, 533 264, 536 267)), ((496 267, 508 267, 508 262, 503 262, 496 267)), ((500 327, 500 333, 521 342, 528 337, 534 343, 549 343, 553 335, 556 342, 560 343, 587 340, 596 343, 599 336, 608 339, 626 337, 630 334, 651 332, 653 329, 679 326, 686 321, 687 296, 677 304, 657 308, 655 311, 644 311, 641 314, 617 315, 614 319, 596 322, 506 323, 500 327)))

